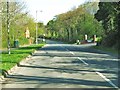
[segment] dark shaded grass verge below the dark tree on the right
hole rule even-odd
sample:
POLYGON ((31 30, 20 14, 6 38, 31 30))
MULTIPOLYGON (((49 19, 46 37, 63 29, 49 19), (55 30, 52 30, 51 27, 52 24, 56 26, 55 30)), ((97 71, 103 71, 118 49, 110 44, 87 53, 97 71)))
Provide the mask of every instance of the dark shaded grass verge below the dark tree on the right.
POLYGON ((118 50, 114 48, 108 48, 108 47, 103 47, 103 46, 93 46, 94 49, 102 50, 105 52, 109 52, 112 54, 118 54, 118 50))

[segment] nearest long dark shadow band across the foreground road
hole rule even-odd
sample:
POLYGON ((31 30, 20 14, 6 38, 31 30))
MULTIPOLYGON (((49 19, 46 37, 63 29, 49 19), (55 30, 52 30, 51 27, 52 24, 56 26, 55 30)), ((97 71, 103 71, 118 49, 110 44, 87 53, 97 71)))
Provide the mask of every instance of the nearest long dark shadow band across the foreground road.
MULTIPOLYGON (((42 84, 78 84, 78 85, 87 85, 87 86, 106 86, 104 81, 92 81, 92 80, 83 80, 83 79, 73 79, 73 78, 59 78, 59 77, 38 77, 38 76, 25 76, 25 75, 9 75, 8 78, 20 79, 20 82, 31 81, 30 83, 35 84, 33 81, 42 84)), ((19 83, 20 83, 19 82, 19 83)), ((107 86, 111 87, 109 84, 107 86)))

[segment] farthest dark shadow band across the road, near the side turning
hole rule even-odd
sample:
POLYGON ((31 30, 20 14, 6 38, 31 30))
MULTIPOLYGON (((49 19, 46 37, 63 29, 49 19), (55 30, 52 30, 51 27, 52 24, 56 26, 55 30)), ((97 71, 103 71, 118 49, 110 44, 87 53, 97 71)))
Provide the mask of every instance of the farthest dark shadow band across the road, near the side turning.
POLYGON ((43 47, 40 48, 40 51, 66 51, 65 48, 67 48, 69 51, 73 51, 73 52, 85 52, 85 53, 97 53, 97 54, 106 54, 105 52, 100 52, 97 50, 94 50, 92 48, 90 48, 90 46, 73 46, 73 45, 68 45, 68 44, 63 44, 64 47, 60 47, 59 45, 50 45, 47 47, 43 47))

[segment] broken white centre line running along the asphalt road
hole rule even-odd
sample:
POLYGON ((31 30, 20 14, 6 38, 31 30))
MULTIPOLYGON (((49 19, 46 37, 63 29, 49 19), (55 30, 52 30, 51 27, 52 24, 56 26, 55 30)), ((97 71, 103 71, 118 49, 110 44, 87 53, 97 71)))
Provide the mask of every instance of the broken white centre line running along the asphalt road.
MULTIPOLYGON (((62 46, 61 46, 62 47, 62 46)), ((64 48, 64 47, 63 47, 64 48)), ((65 48, 67 51, 69 51, 72 55, 75 55, 73 52, 71 52, 70 50, 68 50, 67 48, 65 48)), ((81 60, 85 65, 89 65, 88 63, 86 63, 84 60, 82 60, 80 57, 78 57, 79 60, 81 60)), ((100 77, 102 77, 106 82, 108 82, 110 85, 112 85, 114 88, 118 89, 118 87, 108 78, 106 78, 102 73, 94 70, 96 74, 98 74, 100 77)))

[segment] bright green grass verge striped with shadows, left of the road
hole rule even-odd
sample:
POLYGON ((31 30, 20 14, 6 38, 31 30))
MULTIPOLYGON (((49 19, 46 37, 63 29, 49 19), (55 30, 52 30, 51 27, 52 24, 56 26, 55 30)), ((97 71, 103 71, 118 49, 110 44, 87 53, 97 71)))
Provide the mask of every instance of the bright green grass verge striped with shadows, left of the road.
POLYGON ((0 69, 9 70, 17 63, 19 63, 22 59, 26 58, 36 49, 41 48, 44 44, 39 45, 31 45, 28 47, 21 47, 18 49, 11 50, 11 54, 9 55, 7 52, 2 52, 0 54, 2 56, 2 60, 0 63, 0 69))

